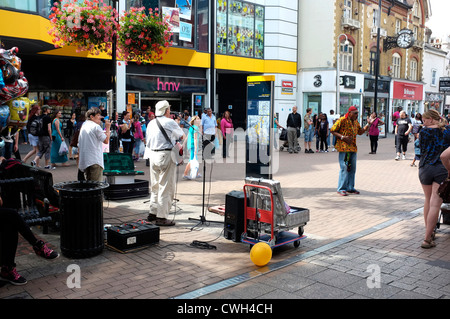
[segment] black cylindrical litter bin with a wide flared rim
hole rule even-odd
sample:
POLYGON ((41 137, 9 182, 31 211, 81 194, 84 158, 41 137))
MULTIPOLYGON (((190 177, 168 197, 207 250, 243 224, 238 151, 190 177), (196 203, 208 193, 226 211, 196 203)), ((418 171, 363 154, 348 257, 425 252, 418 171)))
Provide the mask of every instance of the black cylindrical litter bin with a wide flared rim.
POLYGON ((61 252, 69 258, 89 258, 104 248, 103 190, 96 181, 72 181, 53 185, 59 191, 61 252))

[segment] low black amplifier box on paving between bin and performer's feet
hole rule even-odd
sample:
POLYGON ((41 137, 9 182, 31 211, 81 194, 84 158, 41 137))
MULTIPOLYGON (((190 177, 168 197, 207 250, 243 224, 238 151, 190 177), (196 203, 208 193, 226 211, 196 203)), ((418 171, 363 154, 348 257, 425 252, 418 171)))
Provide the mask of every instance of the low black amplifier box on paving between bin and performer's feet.
POLYGON ((125 251, 159 242, 159 227, 147 222, 111 226, 106 231, 109 246, 125 251))

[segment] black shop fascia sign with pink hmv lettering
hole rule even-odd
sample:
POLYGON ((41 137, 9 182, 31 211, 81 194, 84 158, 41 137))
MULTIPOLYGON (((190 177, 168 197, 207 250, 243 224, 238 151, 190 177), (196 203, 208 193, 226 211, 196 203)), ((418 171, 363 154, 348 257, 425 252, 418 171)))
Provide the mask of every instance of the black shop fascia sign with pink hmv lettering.
POLYGON ((127 90, 152 93, 206 93, 206 79, 127 75, 127 90))

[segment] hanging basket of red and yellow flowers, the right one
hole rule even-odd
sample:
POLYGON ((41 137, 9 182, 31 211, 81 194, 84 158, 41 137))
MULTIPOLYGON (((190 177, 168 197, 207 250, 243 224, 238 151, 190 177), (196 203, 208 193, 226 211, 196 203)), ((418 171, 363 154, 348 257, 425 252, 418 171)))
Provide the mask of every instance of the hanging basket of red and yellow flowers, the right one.
POLYGON ((155 63, 172 45, 169 24, 156 9, 131 8, 120 18, 117 31, 118 59, 137 64, 155 63))

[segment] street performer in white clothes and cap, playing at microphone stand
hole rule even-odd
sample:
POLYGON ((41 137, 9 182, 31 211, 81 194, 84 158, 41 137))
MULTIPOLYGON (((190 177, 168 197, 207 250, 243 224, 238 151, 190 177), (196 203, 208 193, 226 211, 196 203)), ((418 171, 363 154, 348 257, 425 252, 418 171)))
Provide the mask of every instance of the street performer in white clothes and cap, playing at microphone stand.
POLYGON ((155 116, 156 118, 149 122, 146 133, 151 182, 148 220, 155 221, 157 226, 173 226, 175 222, 168 219, 175 197, 176 163, 171 153, 175 141, 182 139, 184 133, 170 117, 169 102, 156 103, 155 116))

